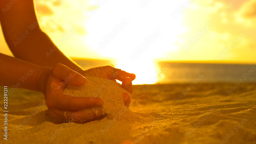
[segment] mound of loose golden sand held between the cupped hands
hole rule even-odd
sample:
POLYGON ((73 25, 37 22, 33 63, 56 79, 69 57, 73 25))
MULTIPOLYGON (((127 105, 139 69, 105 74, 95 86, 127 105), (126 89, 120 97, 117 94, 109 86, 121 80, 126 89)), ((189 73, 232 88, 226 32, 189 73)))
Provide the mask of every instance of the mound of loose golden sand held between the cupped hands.
MULTIPOLYGON (((64 94, 75 97, 99 97, 103 100, 103 106, 84 109, 86 113, 108 114, 110 117, 121 118, 120 112, 127 110, 123 102, 123 93, 128 93, 122 85, 101 77, 86 76, 86 84, 83 86, 67 85, 64 94)), ((122 115, 123 117, 124 115, 122 115)))

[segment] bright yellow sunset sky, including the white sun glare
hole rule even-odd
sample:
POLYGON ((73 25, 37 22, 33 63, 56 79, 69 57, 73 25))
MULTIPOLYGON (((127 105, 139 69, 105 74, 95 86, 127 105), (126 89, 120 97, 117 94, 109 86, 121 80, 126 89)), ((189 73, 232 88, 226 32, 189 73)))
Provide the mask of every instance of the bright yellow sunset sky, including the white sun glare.
POLYGON ((36 0, 36 9, 68 57, 115 59, 141 77, 154 77, 153 61, 256 62, 256 0, 36 0))

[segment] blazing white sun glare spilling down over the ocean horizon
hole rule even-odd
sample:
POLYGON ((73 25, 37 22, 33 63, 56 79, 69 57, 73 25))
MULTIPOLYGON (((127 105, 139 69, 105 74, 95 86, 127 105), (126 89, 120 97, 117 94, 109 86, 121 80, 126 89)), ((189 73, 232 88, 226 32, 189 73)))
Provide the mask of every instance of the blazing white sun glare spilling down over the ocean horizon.
POLYGON ((168 58, 168 53, 178 51, 177 35, 185 31, 181 17, 173 18, 168 7, 152 11, 152 3, 143 9, 139 4, 131 5, 131 10, 106 2, 90 13, 85 25, 88 31, 85 42, 90 49, 103 57, 115 58, 116 68, 134 73, 133 84, 158 82, 154 59, 168 58))

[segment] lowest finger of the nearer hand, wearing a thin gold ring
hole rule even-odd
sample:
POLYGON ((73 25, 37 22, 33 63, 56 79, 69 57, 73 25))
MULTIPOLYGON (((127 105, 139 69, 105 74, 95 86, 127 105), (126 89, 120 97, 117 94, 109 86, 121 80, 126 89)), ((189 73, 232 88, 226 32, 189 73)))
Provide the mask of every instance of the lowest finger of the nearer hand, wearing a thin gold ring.
POLYGON ((92 109, 83 110, 65 110, 65 109, 49 109, 52 116, 56 116, 68 121, 79 124, 88 123, 90 121, 99 120, 106 116, 102 109, 98 108, 97 113, 92 109), (65 113, 66 112, 66 113, 65 113))

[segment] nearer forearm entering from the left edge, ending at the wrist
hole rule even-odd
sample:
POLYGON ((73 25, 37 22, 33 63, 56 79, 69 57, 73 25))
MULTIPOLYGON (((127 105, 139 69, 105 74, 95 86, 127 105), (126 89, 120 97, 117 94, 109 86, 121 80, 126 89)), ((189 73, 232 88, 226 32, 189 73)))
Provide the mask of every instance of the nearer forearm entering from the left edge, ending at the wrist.
POLYGON ((18 58, 0 53, 0 86, 25 88, 41 92, 41 75, 49 70, 18 58))

